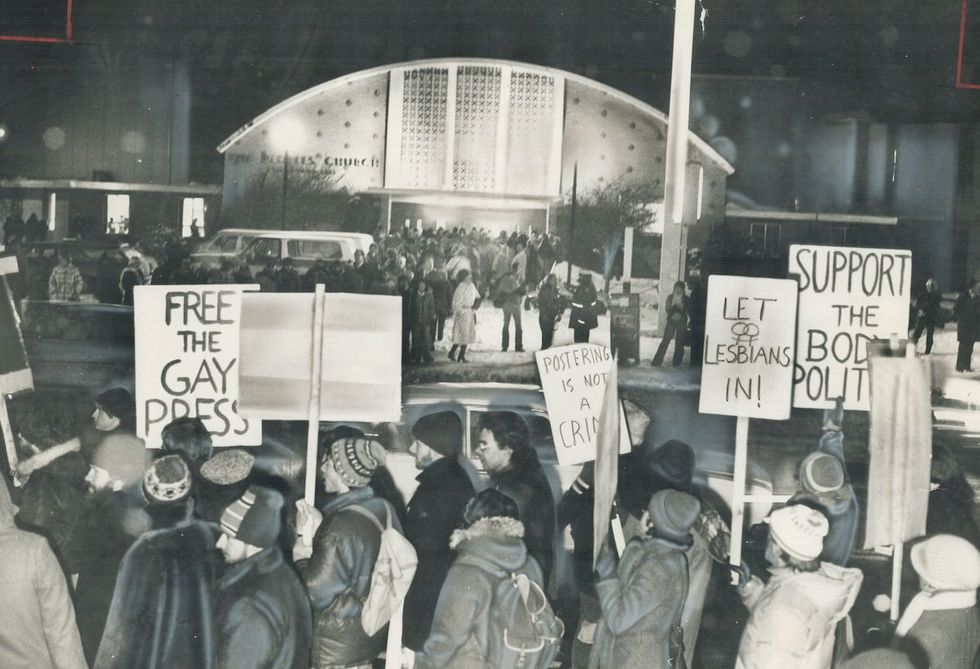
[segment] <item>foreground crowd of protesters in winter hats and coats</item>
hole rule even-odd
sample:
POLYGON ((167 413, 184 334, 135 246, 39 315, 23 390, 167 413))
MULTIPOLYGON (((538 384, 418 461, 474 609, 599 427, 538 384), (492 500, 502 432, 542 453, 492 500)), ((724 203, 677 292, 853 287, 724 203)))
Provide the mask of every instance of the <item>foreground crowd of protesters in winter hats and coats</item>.
MULTIPOLYGON (((417 560, 405 582, 403 666, 667 669, 694 666, 712 643, 702 617, 728 587, 712 572, 726 569, 730 530, 683 442, 654 447, 641 436, 620 457, 627 542, 621 554, 601 546, 593 568, 594 468, 556 504, 517 414, 488 412, 477 425, 486 479, 463 455, 456 413, 416 421, 418 486, 406 504, 381 437, 322 433, 309 500, 288 467, 215 450, 194 418, 173 421, 162 448, 146 449, 133 413, 118 388, 97 397, 81 429, 58 400, 19 406, 20 460, 0 479, 4 666, 366 669, 386 646, 390 612, 380 616, 373 590, 387 587, 378 565, 399 559, 392 535, 417 560), (568 634, 552 598, 564 527, 577 590, 568 634)), ((627 416, 643 435, 649 416, 627 416)), ((980 536, 972 491, 942 448, 929 533, 910 554, 919 592, 888 648, 847 659, 864 574, 849 564, 859 509, 842 423, 840 405, 825 413, 799 492, 770 514, 767 568, 733 569, 748 610, 735 666, 874 667, 884 656, 894 669, 972 669, 980 536)))

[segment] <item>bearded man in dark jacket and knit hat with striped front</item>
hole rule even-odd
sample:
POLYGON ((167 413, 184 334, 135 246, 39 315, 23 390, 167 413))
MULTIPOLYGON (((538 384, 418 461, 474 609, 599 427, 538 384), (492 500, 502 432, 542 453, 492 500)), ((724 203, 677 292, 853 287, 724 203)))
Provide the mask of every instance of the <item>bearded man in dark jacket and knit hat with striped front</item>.
POLYGON ((251 486, 221 515, 218 548, 231 565, 214 596, 217 666, 309 669, 310 601, 276 544, 283 498, 251 486))

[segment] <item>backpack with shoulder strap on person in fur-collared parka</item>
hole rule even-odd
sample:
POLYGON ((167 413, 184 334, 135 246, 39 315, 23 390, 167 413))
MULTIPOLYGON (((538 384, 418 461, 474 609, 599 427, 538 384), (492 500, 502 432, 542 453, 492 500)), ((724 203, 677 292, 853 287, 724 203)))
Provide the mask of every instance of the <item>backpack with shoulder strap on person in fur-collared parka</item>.
POLYGON ((565 626, 537 583, 523 572, 507 572, 476 556, 458 563, 479 567, 497 578, 490 606, 486 666, 493 669, 548 669, 558 655, 565 626))

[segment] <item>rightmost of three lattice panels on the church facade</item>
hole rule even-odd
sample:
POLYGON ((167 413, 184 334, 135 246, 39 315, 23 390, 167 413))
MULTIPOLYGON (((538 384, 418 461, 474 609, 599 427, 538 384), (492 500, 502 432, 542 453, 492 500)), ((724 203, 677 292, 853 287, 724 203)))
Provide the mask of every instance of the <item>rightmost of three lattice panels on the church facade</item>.
POLYGON ((520 70, 511 73, 508 191, 549 192, 555 104, 554 77, 520 70))

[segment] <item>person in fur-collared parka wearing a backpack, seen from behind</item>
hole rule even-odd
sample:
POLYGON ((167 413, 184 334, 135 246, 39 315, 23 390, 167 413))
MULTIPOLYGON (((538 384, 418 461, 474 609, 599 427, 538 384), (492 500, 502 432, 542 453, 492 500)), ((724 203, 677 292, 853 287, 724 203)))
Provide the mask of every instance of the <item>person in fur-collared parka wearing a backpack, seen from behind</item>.
POLYGON ((547 658, 532 662, 519 652, 544 651, 549 640, 557 647, 561 633, 555 628, 549 640, 536 639, 541 647, 520 643, 538 630, 527 615, 517 615, 519 607, 525 614, 547 614, 549 622, 554 617, 541 568, 521 540, 517 504, 497 490, 484 490, 466 505, 463 519, 449 543, 459 556, 439 593, 432 633, 415 656, 416 669, 548 666, 547 658))

